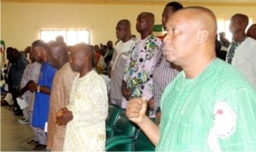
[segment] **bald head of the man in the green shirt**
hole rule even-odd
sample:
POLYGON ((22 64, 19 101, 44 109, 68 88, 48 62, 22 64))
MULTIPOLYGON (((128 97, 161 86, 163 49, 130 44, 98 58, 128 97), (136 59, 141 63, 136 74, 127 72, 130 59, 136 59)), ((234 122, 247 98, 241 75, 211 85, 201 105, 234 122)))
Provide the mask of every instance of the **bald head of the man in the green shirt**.
POLYGON ((166 31, 163 53, 168 61, 184 68, 199 59, 215 56, 217 22, 211 10, 179 9, 167 21, 166 31))

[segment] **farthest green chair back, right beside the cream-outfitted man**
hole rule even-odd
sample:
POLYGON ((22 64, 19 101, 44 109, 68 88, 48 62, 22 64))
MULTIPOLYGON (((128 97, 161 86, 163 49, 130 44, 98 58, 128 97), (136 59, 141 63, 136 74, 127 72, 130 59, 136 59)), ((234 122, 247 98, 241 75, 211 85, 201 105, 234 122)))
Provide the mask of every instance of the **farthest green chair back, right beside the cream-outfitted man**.
POLYGON ((113 127, 117 121, 119 113, 123 111, 119 106, 109 104, 108 105, 108 116, 106 119, 106 124, 108 127, 113 127))

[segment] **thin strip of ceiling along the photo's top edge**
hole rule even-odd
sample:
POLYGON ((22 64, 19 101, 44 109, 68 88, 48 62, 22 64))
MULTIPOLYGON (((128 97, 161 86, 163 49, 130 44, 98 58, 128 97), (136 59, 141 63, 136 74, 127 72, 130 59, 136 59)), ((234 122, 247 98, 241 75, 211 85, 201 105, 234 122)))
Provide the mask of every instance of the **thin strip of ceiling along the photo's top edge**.
MULTIPOLYGON (((256 4, 256 0, 177 0, 180 3, 187 4, 256 4)), ((2 0, 2 2, 14 3, 107 3, 107 4, 163 4, 170 0, 2 0)))

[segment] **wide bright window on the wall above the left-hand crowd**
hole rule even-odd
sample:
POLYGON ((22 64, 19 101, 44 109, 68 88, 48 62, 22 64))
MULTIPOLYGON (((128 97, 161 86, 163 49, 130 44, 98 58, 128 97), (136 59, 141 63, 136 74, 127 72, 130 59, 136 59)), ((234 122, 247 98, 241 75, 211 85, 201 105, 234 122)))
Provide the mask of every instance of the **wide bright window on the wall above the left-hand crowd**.
POLYGON ((90 44, 90 31, 87 29, 42 29, 39 34, 44 42, 54 41, 57 36, 62 36, 69 46, 79 42, 90 44))

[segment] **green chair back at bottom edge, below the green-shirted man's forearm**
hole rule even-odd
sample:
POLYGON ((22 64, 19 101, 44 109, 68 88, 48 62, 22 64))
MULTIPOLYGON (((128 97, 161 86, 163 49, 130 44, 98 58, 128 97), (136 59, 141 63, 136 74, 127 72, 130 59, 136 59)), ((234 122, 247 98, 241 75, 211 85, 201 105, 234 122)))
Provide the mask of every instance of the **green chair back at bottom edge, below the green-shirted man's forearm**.
POLYGON ((154 151, 154 144, 148 139, 142 130, 137 131, 135 151, 154 151))

